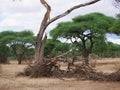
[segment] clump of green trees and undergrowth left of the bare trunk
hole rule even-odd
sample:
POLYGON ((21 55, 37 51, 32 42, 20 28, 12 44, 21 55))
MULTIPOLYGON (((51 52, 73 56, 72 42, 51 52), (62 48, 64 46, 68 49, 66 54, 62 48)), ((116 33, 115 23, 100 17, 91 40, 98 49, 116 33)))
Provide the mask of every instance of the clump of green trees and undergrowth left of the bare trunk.
POLYGON ((8 59, 22 60, 34 56, 35 36, 31 31, 0 32, 0 63, 9 63, 8 59))

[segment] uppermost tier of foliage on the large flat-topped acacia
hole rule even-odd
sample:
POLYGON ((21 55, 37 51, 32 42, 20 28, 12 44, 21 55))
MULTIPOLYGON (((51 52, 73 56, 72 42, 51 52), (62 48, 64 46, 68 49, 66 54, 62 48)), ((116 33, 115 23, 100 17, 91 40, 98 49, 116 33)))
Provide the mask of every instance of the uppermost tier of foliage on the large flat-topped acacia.
POLYGON ((115 19, 113 17, 105 16, 101 13, 90 13, 86 14, 84 16, 77 16, 73 18, 74 22, 88 22, 87 26, 89 28, 99 28, 99 29, 105 29, 108 30, 108 28, 114 23, 115 19))

